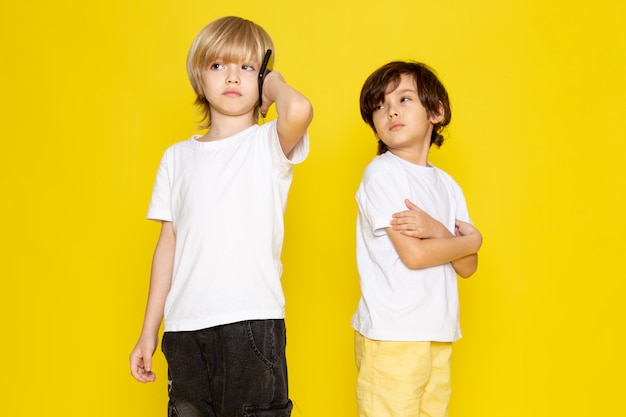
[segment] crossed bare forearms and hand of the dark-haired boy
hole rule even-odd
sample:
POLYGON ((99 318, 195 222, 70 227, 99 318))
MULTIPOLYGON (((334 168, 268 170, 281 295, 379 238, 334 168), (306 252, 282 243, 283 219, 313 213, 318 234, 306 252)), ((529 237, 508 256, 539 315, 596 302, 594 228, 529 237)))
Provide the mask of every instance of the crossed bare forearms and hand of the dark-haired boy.
POLYGON ((456 221, 455 234, 409 200, 408 210, 395 213, 386 229, 402 262, 411 269, 450 262, 458 275, 470 277, 478 267, 482 235, 474 226, 456 221))

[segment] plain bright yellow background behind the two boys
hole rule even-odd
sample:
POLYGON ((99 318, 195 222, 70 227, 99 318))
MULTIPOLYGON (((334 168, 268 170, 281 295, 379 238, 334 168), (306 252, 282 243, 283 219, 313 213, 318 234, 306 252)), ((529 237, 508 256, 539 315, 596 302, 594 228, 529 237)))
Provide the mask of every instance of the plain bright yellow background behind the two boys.
MULTIPOLYGON (((484 234, 460 283, 451 416, 623 411, 626 9, 621 0, 3 1, 0 414, 165 415, 166 365, 128 370, 165 148, 194 133, 184 61, 240 15, 315 106, 287 209, 294 416, 356 416, 354 193, 375 140, 363 81, 433 66, 453 105, 432 162, 484 234)), ((253 209, 253 208, 251 208, 253 209)))

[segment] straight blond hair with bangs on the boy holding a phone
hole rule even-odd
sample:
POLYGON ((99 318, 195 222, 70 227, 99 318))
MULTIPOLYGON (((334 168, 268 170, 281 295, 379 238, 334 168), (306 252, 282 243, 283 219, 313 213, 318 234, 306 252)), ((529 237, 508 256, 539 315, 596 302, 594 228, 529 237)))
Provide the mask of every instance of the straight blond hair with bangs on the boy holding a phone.
MULTIPOLYGON (((211 126, 211 106, 203 91, 203 70, 218 57, 225 63, 256 62, 260 65, 268 49, 274 50, 274 45, 265 29, 250 20, 235 16, 214 20, 196 35, 187 54, 187 75, 196 93, 194 104, 202 113, 201 128, 211 126)), ((258 110, 257 106, 255 122, 258 120, 258 110)))

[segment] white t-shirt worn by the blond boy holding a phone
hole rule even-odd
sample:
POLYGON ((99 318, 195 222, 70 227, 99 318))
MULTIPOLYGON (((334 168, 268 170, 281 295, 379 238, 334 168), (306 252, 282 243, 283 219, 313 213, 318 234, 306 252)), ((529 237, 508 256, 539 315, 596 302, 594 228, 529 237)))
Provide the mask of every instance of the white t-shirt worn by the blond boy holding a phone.
POLYGON ((165 151, 148 209, 176 233, 165 331, 284 318, 283 216, 308 134, 290 159, 275 121, 218 141, 198 138, 165 151))

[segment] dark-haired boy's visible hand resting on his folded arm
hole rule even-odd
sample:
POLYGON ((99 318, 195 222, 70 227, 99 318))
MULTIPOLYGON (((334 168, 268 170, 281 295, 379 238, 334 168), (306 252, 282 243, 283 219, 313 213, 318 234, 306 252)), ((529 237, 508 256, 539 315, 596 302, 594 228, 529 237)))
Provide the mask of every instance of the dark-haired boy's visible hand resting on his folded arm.
POLYGON ((390 224, 393 230, 419 239, 452 236, 443 224, 433 219, 411 201, 404 200, 404 204, 408 210, 392 215, 393 219, 390 224))

